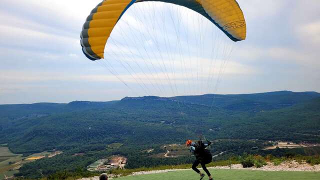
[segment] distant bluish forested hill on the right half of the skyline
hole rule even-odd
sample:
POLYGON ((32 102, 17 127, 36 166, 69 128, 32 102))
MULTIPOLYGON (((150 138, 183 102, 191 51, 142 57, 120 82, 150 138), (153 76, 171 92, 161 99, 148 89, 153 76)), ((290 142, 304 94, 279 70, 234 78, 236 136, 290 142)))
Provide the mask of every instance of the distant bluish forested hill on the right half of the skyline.
POLYGON ((226 110, 271 110, 307 102, 320 97, 318 92, 275 91, 252 94, 204 94, 193 96, 176 96, 181 102, 217 106, 226 110))

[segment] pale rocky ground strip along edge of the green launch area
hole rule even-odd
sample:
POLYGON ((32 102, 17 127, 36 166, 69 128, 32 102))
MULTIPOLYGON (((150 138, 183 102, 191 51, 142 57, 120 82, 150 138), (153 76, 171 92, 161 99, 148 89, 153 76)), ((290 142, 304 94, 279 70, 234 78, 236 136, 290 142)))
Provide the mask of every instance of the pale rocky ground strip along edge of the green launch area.
MULTIPOLYGON (((265 171, 320 171, 320 164, 318 165, 310 165, 307 163, 299 164, 295 160, 282 162, 279 165, 273 165, 273 163, 268 162, 267 165, 263 167, 249 167, 243 168, 241 164, 232 164, 231 166, 215 166, 215 167, 208 167, 210 169, 247 169, 247 170, 265 170, 265 171)), ((152 173, 163 173, 169 171, 177 171, 177 170, 186 170, 186 169, 166 169, 166 170, 151 170, 151 171, 139 171, 134 172, 131 175, 141 175, 141 174, 152 174, 152 173)), ((112 178, 112 175, 110 175, 112 178)), ((110 178, 110 179, 111 179, 110 178)), ((81 178, 78 180, 98 180, 99 177, 90 177, 90 178, 81 178)))

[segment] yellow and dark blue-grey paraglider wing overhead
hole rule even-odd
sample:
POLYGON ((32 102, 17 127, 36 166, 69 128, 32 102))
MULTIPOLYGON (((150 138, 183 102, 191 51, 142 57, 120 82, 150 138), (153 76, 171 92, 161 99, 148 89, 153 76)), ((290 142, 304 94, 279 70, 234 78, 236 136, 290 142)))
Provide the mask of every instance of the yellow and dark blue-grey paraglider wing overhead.
POLYGON ((105 44, 117 21, 133 3, 142 1, 185 6, 209 19, 233 41, 245 39, 244 16, 235 0, 103 0, 83 24, 80 35, 83 53, 91 60, 103 58, 105 44))

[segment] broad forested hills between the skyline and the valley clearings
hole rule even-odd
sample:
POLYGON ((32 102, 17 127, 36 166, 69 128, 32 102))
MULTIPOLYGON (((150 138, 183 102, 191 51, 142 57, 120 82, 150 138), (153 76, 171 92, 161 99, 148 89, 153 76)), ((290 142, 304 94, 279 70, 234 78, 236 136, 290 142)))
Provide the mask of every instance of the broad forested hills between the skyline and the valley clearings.
POLYGON ((303 135, 319 129, 320 94, 316 92, 0 105, 0 143, 8 143, 14 152, 113 142, 163 144, 198 134, 212 139, 319 141, 318 136, 303 135))

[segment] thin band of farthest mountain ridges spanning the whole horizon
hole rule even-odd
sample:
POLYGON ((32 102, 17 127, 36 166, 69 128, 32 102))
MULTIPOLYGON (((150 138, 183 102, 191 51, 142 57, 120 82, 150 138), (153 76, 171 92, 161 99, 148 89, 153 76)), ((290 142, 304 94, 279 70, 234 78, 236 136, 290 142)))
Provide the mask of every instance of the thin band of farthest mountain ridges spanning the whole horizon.
MULTIPOLYGON (((1 116, 21 116, 28 113, 60 113, 81 111, 85 109, 104 108, 119 103, 133 101, 179 101, 181 103, 213 106, 230 111, 260 111, 292 106, 320 97, 318 92, 274 91, 251 94, 203 94, 173 97, 141 96, 124 97, 113 101, 71 101, 69 103, 32 103, 32 104, 3 104, 0 105, 1 116)), ((136 103, 135 102, 135 103, 136 103)))

